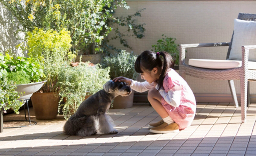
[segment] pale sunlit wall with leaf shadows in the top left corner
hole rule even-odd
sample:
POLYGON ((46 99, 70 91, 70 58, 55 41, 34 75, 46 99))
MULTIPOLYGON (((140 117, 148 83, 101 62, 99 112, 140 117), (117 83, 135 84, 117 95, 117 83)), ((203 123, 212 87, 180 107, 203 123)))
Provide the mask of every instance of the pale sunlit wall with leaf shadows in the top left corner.
MULTIPOLYGON (((22 51, 15 48, 21 41, 15 38, 12 30, 13 26, 11 12, 0 3, 0 52, 5 53, 6 50, 11 49, 16 56, 22 56, 22 51)), ((23 37, 24 34, 20 34, 19 36, 23 37)))

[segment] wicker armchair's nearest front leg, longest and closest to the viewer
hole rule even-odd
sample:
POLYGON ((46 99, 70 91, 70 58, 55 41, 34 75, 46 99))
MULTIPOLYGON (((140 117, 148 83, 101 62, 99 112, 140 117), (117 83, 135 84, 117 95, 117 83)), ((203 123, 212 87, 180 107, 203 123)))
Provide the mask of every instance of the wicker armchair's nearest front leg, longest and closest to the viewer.
POLYGON ((246 104, 247 104, 247 85, 248 80, 246 76, 241 76, 241 114, 242 114, 242 123, 246 123, 246 104))

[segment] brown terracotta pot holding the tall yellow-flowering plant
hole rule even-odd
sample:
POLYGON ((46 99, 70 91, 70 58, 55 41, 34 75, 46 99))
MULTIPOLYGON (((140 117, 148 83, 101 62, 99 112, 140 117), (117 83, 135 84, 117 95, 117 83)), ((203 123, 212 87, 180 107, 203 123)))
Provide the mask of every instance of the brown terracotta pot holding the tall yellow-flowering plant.
POLYGON ((56 119, 59 105, 59 95, 57 93, 34 93, 31 97, 31 101, 36 119, 56 119))

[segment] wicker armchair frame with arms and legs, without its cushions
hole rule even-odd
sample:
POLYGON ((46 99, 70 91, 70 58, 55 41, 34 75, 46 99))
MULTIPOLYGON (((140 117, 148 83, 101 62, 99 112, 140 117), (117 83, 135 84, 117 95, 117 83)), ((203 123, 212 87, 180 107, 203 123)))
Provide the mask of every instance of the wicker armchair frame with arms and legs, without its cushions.
MULTIPOLYGON (((244 14, 239 13, 238 18, 240 20, 254 20, 256 21, 256 14, 244 14)), ((234 32, 232 35, 232 39, 234 32)), ((241 82, 241 113, 242 123, 246 123, 246 100, 247 100, 247 88, 248 80, 256 80, 256 70, 248 70, 248 56, 250 49, 256 49, 256 45, 244 45, 242 46, 242 66, 233 69, 205 69, 185 64, 186 48, 195 47, 216 47, 216 46, 229 46, 227 58, 229 58, 231 42, 221 43, 202 43, 202 44, 181 44, 179 45, 179 73, 181 76, 189 75, 196 78, 202 78, 207 80, 227 80, 229 83, 230 91, 234 99, 235 107, 238 107, 237 95, 235 92, 234 80, 240 80, 241 82)))

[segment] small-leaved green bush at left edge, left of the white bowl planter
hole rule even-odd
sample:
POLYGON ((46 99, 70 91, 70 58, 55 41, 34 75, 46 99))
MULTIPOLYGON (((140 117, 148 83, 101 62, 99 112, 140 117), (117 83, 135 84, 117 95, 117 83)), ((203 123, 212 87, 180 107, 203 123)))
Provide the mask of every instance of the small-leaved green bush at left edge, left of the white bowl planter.
POLYGON ((3 108, 5 113, 12 108, 16 114, 19 114, 18 110, 23 103, 17 100, 19 94, 15 89, 16 84, 13 81, 9 81, 5 75, 0 76, 0 109, 3 108))

